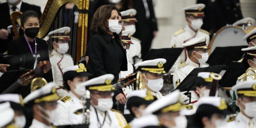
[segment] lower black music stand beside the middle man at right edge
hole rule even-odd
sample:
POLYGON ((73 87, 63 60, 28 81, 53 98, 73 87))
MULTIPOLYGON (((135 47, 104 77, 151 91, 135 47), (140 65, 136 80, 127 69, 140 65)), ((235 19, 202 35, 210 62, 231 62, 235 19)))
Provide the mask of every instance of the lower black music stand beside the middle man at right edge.
POLYGON ((236 84, 237 78, 242 74, 244 74, 247 68, 249 67, 247 67, 242 62, 236 62, 236 61, 231 62, 230 65, 228 66, 228 69, 222 76, 222 79, 221 79, 222 82, 220 82, 219 84, 222 87, 234 86, 236 84))

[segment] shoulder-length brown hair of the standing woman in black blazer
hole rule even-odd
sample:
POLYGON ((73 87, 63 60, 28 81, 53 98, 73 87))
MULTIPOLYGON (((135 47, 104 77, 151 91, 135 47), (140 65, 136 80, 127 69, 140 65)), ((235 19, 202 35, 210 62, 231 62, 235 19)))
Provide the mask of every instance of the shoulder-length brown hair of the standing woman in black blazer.
POLYGON ((96 10, 92 18, 92 24, 90 28, 92 35, 104 34, 108 32, 109 29, 106 25, 106 22, 108 18, 110 18, 112 10, 116 10, 118 14, 120 14, 120 12, 113 5, 103 5, 96 10))

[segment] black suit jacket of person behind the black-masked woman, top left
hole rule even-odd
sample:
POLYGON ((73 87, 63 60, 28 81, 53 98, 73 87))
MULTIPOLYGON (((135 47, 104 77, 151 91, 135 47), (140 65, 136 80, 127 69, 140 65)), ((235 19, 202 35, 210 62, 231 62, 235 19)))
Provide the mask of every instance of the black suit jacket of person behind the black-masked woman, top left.
MULTIPOLYGON (((20 11, 24 12, 26 10, 35 11, 38 14, 39 18, 42 16, 40 6, 22 2, 20 11)), ((7 30, 7 27, 12 25, 11 18, 10 18, 10 8, 9 8, 7 2, 0 4, 0 12, 1 12, 0 13, 0 19, 1 19, 0 20, 0 29, 4 28, 7 30)), ((11 34, 9 34, 9 37, 7 40, 0 39, 0 52, 4 53, 5 51, 8 50, 8 42, 10 42, 10 40, 12 40, 11 34)))

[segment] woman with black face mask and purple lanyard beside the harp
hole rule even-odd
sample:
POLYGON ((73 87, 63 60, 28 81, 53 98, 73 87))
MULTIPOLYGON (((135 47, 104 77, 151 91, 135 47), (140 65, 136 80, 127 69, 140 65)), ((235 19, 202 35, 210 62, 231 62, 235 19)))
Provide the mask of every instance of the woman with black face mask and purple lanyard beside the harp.
MULTIPOLYGON (((20 23, 24 36, 10 42, 8 55, 22 58, 21 62, 26 70, 34 69, 38 62, 49 60, 48 45, 45 40, 36 38, 39 32, 39 17, 36 12, 33 10, 23 12, 20 23)), ((52 82, 52 70, 44 74, 43 78, 47 82, 52 82)), ((20 93, 22 97, 26 97, 30 93, 30 86, 22 86, 14 93, 20 93)))

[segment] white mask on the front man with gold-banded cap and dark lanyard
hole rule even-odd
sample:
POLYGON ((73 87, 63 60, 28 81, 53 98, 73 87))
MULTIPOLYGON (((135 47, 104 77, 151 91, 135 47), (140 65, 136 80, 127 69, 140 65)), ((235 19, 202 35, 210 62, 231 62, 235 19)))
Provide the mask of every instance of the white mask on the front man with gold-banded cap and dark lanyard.
POLYGON ((94 105, 94 108, 100 111, 107 111, 113 107, 113 100, 112 98, 96 98, 96 96, 91 95, 93 98, 98 100, 98 105, 94 105))

